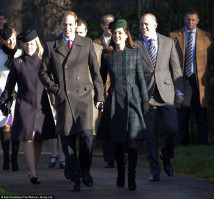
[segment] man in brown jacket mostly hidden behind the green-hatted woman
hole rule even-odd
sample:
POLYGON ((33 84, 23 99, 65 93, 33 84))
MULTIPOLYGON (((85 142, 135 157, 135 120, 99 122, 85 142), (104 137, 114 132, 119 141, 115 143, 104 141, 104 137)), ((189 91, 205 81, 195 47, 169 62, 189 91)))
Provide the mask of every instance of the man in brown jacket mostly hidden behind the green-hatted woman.
MULTIPOLYGON (((93 43, 99 44, 103 46, 103 49, 108 49, 110 41, 111 41, 111 29, 109 28, 109 24, 114 21, 114 16, 112 14, 107 14, 101 18, 101 28, 103 30, 103 34, 93 43)), ((106 84, 105 84, 105 99, 108 96, 108 89, 110 87, 110 77, 107 76, 106 84)), ((113 168, 114 167, 114 144, 110 142, 110 140, 103 140, 103 157, 105 168, 113 168)))

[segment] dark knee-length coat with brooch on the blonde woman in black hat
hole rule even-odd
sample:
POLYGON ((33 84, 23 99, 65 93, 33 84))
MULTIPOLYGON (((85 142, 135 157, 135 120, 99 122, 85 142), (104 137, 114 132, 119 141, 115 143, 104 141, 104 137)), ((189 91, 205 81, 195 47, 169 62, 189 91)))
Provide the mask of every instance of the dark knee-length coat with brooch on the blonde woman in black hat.
POLYGON ((47 93, 38 78, 40 63, 37 54, 32 57, 23 54, 15 58, 11 65, 0 104, 8 100, 17 83, 12 140, 31 140, 34 130, 36 139, 55 136, 55 125, 47 93))

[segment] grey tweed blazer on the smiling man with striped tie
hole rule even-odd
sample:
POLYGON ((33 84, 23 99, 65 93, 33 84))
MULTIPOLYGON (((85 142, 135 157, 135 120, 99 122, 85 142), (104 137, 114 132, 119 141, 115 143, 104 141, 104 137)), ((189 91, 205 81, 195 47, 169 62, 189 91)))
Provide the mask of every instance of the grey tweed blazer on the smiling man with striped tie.
POLYGON ((149 98, 156 85, 162 100, 169 105, 174 105, 175 94, 183 93, 183 76, 178 53, 171 38, 159 33, 157 35, 158 50, 155 67, 152 65, 143 37, 137 39, 135 43, 141 49, 149 98))

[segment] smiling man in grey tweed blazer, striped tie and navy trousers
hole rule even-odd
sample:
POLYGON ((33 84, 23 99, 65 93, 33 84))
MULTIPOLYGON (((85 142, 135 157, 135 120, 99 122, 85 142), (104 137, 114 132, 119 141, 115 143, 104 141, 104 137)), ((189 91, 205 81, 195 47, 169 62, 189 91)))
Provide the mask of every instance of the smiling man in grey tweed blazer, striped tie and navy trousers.
POLYGON ((184 101, 183 76, 174 41, 156 32, 156 17, 147 13, 141 17, 142 37, 135 41, 141 49, 143 70, 149 95, 149 112, 145 115, 147 160, 150 165, 150 181, 160 178, 158 155, 159 120, 161 122, 162 147, 160 158, 164 171, 173 176, 170 159, 174 157, 174 147, 178 133, 177 110, 184 101), (176 103, 176 105, 175 105, 176 103))

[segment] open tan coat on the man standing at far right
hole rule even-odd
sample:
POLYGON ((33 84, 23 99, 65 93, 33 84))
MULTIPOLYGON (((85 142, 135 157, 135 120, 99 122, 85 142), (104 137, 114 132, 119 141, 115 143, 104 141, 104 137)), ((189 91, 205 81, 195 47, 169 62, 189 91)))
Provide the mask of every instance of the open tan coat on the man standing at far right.
MULTIPOLYGON (((175 41, 175 46, 179 55, 181 69, 185 67, 185 29, 182 28, 170 33, 170 37, 175 41)), ((208 66, 213 61, 213 44, 211 35, 199 28, 196 30, 196 79, 198 80, 200 103, 202 107, 208 106, 208 66)), ((184 106, 190 106, 191 89, 188 82, 184 79, 184 106)))

